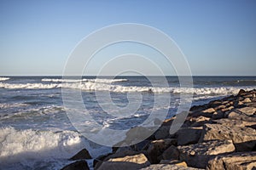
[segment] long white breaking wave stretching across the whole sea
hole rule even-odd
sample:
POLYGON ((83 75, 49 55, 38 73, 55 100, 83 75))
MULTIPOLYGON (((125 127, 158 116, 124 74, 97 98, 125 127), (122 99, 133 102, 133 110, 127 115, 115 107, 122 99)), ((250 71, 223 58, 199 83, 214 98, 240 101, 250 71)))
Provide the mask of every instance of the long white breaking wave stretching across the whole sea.
MULTIPOLYGON (((73 82, 73 83, 3 83, 0 82, 0 88, 26 88, 26 89, 50 89, 50 88, 73 88, 84 91, 110 91, 117 93, 126 92, 152 92, 152 93, 172 93, 172 94, 237 94, 241 87, 223 87, 223 88, 156 88, 156 87, 137 87, 121 86, 103 82, 73 82)), ((244 88, 252 90, 252 88, 244 88)))

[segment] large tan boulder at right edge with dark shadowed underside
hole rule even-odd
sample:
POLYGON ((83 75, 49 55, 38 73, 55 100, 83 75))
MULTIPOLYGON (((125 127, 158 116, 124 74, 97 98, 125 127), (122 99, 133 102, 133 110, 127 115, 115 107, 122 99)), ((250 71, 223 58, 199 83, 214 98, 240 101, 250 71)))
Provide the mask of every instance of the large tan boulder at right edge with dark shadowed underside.
POLYGON ((206 124, 199 142, 209 140, 232 140, 236 151, 250 151, 256 144, 256 131, 250 127, 226 126, 224 124, 206 124))

